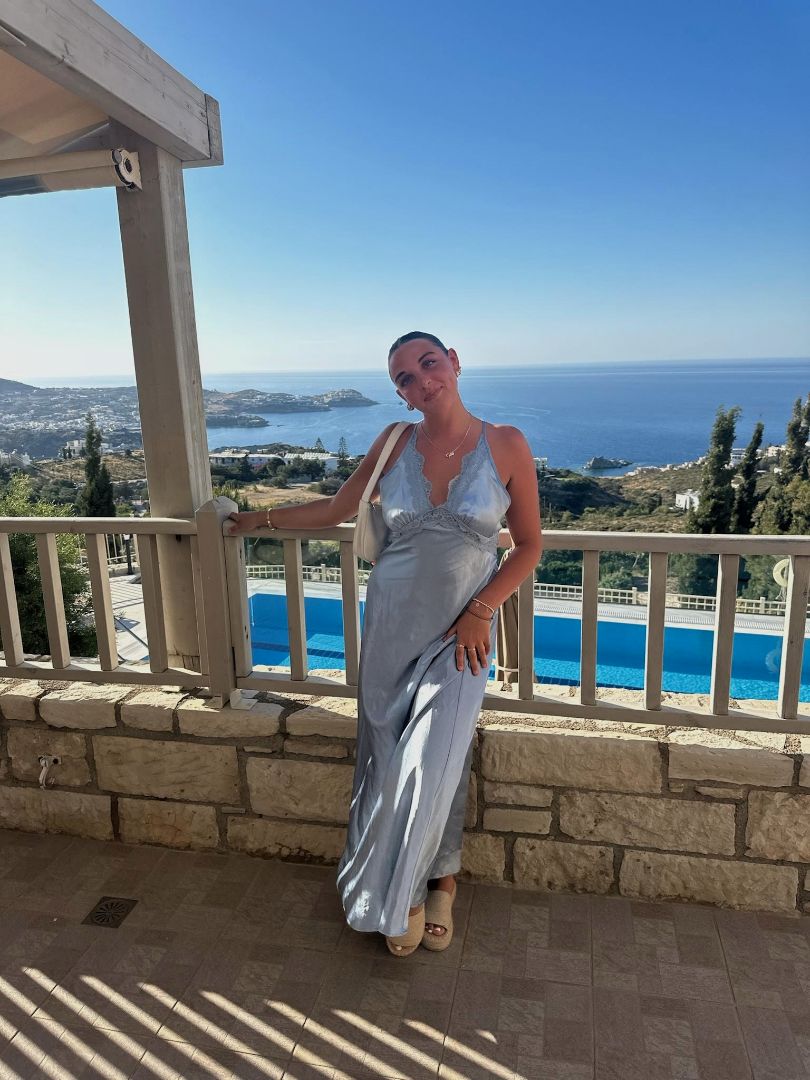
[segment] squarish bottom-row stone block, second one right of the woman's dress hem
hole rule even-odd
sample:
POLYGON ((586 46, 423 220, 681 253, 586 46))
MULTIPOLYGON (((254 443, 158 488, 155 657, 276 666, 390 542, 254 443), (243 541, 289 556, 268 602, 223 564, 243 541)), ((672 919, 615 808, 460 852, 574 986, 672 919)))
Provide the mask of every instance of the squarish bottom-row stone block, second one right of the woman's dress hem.
POLYGON ((606 893, 613 883, 613 852, 591 843, 518 839, 514 881, 550 891, 606 893))

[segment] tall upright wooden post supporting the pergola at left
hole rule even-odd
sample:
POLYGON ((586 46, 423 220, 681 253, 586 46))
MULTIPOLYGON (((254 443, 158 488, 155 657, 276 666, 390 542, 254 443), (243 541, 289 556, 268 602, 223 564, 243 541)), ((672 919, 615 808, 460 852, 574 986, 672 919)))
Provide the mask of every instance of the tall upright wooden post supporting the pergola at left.
MULTIPOLYGON (((122 138, 143 181, 119 189, 118 213, 149 502, 154 516, 193 517, 212 487, 183 166, 132 132, 122 138)), ((161 536, 158 550, 168 662, 200 670, 190 537, 161 536)))

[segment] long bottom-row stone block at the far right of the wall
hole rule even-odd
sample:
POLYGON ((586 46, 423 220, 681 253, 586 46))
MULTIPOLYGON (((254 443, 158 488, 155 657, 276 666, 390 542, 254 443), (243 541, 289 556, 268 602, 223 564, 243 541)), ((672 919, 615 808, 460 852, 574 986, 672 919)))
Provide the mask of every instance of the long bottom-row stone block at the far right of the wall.
POLYGON ((629 851, 619 891, 643 900, 687 900, 751 912, 795 912, 798 870, 698 855, 629 851))

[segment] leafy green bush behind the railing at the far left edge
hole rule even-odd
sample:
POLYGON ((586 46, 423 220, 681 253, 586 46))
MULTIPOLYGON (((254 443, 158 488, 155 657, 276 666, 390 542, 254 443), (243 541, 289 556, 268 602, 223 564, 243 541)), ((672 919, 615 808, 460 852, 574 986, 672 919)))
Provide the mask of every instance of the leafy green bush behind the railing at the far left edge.
MULTIPOLYGON (((29 477, 23 473, 12 476, 5 490, 0 494, 0 517, 69 517, 70 509, 37 499, 29 477)), ((29 532, 13 532, 9 537, 9 546, 23 648, 26 652, 48 654, 51 647, 45 626, 36 539, 29 532)), ((86 577, 79 565, 80 538, 72 534, 57 535, 56 552, 71 656, 93 657, 97 652, 92 625, 93 603, 86 577)))

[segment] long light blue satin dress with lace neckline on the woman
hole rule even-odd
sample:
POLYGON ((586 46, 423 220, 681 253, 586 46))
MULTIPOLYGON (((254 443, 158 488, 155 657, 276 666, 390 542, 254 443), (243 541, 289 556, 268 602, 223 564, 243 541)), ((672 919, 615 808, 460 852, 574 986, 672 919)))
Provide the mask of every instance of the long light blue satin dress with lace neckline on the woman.
MULTIPOLYGON (((338 889, 351 927, 405 933, 428 881, 461 867, 475 724, 487 672, 456 667, 442 637, 496 571, 510 497, 483 424, 430 501, 416 426, 380 480, 389 539, 366 590, 357 688, 357 760, 338 889)), ((495 624, 492 625, 492 640, 495 624)))

